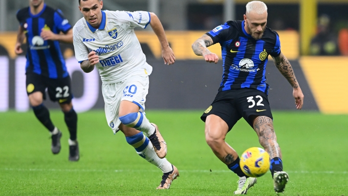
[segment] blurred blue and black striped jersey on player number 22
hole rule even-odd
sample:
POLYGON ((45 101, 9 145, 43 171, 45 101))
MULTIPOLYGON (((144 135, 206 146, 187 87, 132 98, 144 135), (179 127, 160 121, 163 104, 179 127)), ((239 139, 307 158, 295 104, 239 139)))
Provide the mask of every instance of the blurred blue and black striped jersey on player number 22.
POLYGON ((67 33, 72 28, 62 11, 44 4, 39 14, 32 15, 30 7, 26 7, 17 12, 17 20, 26 35, 26 72, 53 79, 67 77, 68 72, 59 41, 44 41, 40 37, 43 28, 50 29, 55 34, 67 33))

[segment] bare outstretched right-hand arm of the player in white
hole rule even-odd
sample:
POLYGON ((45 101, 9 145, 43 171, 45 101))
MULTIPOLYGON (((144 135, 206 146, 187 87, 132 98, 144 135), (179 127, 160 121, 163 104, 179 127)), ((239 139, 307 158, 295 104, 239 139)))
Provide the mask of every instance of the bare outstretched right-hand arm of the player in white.
POLYGON ((164 64, 168 64, 168 65, 174 64, 175 62, 174 52, 172 48, 169 47, 169 43, 167 41, 167 37, 164 32, 162 23, 159 21, 158 17, 152 12, 150 12, 150 17, 151 17, 150 26, 153 32, 156 34, 162 46, 162 57, 164 60, 164 64))

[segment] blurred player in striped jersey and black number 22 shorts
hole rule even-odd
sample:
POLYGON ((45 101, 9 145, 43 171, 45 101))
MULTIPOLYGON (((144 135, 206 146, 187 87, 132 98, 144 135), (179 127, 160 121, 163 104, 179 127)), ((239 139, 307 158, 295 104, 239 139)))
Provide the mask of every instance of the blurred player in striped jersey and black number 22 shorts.
POLYGON ((21 45, 26 38, 26 90, 35 116, 52 135, 52 152, 59 153, 62 132, 53 125, 49 111, 43 105, 47 88, 49 98, 58 102, 64 112, 70 132, 69 160, 78 161, 77 114, 71 103, 71 79, 59 47, 60 41, 72 43, 71 25, 60 10, 47 6, 43 0, 29 0, 29 7, 19 10, 17 19, 20 27, 15 52, 23 52, 21 45))

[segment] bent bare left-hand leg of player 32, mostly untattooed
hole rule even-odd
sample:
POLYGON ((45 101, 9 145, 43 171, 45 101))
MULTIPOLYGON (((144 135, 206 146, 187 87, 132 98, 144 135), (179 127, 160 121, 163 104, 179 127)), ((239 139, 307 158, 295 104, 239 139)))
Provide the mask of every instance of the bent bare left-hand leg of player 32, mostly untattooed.
POLYGON ((205 121, 205 140, 214 154, 226 165, 237 160, 237 152, 225 142, 228 125, 217 115, 209 115, 205 121))

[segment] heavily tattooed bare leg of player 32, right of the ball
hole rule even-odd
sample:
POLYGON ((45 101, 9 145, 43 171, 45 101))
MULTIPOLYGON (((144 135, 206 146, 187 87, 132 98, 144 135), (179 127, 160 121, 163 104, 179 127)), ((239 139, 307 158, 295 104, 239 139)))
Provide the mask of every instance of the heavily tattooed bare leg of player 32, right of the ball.
POLYGON ((259 136, 259 142, 271 159, 282 158, 281 148, 277 143, 277 136, 273 129, 273 121, 267 116, 257 116, 254 119, 254 130, 259 136))

